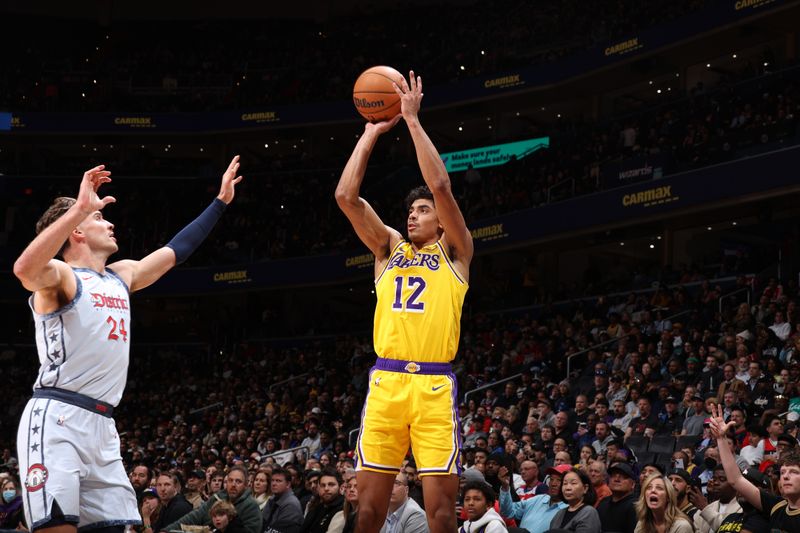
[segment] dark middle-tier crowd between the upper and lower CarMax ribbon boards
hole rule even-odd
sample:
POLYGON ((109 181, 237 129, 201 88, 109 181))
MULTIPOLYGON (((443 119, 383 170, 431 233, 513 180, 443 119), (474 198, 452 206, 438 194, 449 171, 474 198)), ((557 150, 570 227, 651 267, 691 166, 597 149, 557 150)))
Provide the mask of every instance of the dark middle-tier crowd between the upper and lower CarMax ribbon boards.
MULTIPOLYGON (((454 192, 468 222, 475 223, 624 185, 627 182, 619 174, 626 162, 661 165, 661 172, 668 175, 794 143, 800 111, 798 75, 800 69, 793 68, 777 75, 758 75, 741 84, 723 84, 714 90, 695 88, 691 97, 612 122, 564 121, 548 132, 552 139, 549 149, 500 167, 456 174, 454 192), (658 162, 652 158, 658 158, 658 162), (548 192, 556 184, 560 186, 548 192)), ((441 149, 445 151, 445 147, 441 149)), ((405 212, 400 199, 421 179, 410 160, 400 160, 393 153, 371 166, 363 194, 384 221, 403 227, 405 212)), ((59 175, 72 172, 79 176, 91 164, 84 156, 64 160, 28 155, 31 157, 21 154, 16 161, 26 172, 46 173, 38 166, 50 161, 50 165, 58 162, 59 175)), ((358 249, 354 232, 333 201, 332 191, 346 155, 317 158, 303 153, 271 159, 263 154, 244 154, 242 169, 250 179, 242 187, 240 200, 231 207, 230 216, 221 221, 209 245, 192 259, 192 264, 235 264, 358 249)), ((213 194, 211 183, 216 181, 218 169, 208 160, 182 162, 185 166, 178 171, 169 166, 170 159, 158 156, 128 153, 124 159, 115 157, 110 155, 110 160, 102 162, 124 174, 138 170, 147 176, 170 172, 186 175, 186 169, 195 168, 203 178, 162 180, 155 189, 142 187, 139 180, 125 179, 108 186, 109 194, 120 203, 109 208, 107 216, 125 232, 121 246, 130 256, 144 255, 163 245, 171 231, 191 219, 198 206, 213 194), (175 198, 182 201, 174 202, 175 198), (164 217, 154 218, 145 208, 154 201, 170 205, 164 217)), ((9 160, 3 171, 13 175, 13 168, 17 167, 9 160)), ((74 194, 73 188, 73 183, 63 179, 38 180, 30 196, 12 194, 5 202, 15 209, 14 220, 19 227, 32 228, 41 206, 57 195, 74 194)), ((9 249, 21 248, 29 233, 15 231, 10 238, 17 241, 10 242, 9 249)))

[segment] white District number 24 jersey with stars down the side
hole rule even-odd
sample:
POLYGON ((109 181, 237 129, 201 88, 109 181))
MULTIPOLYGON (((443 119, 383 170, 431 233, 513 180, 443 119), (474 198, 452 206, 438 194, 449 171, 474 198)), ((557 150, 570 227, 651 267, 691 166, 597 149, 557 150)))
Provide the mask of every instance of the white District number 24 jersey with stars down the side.
POLYGON ((45 315, 33 310, 39 376, 33 388, 56 387, 115 406, 122 398, 130 354, 130 293, 116 273, 73 268, 77 290, 45 315))

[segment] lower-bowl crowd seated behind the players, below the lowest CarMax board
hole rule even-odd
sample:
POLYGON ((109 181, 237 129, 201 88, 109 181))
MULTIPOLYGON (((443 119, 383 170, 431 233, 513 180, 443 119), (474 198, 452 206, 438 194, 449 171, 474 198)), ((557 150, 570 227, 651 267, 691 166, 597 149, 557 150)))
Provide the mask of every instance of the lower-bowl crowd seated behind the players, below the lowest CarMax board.
MULTIPOLYGON (((459 390, 506 381, 459 405, 469 493, 459 500, 460 520, 470 527, 483 516, 476 509, 489 512, 496 499, 506 527, 530 533, 573 522, 633 531, 653 519, 642 508, 650 493, 666 491, 672 519, 717 531, 732 513, 752 514, 720 467, 709 427, 717 404, 734 424, 729 442, 741 469, 780 495, 781 458, 798 448, 799 413, 789 402, 800 397, 800 291, 774 278, 751 290, 753 305, 729 299, 722 313, 719 292, 706 284, 536 316, 466 319, 454 367, 459 390), (582 350, 568 374, 567 358, 582 350)), ((14 416, 35 358, 7 352, 0 433, 13 471, 14 416)), ((224 515, 253 533, 352 528, 353 431, 373 357, 369 339, 339 338, 132 358, 115 417, 145 524, 225 530, 216 526, 224 515), (278 517, 287 522, 278 526, 278 517)), ((413 457, 396 487, 390 530, 424 508, 413 457)), ((493 514, 484 521, 501 525, 493 514)))

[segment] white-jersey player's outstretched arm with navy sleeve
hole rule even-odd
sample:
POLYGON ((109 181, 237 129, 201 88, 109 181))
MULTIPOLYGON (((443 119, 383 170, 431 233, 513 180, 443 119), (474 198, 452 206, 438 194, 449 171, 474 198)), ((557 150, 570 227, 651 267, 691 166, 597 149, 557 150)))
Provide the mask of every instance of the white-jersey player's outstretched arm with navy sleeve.
POLYGON ((126 259, 118 261, 109 268, 124 279, 131 292, 149 287, 175 265, 186 261, 200 244, 208 237, 214 225, 225 212, 225 208, 233 201, 236 185, 242 181, 237 176, 239 156, 234 157, 222 175, 219 194, 199 217, 172 238, 166 246, 159 248, 139 261, 126 259))

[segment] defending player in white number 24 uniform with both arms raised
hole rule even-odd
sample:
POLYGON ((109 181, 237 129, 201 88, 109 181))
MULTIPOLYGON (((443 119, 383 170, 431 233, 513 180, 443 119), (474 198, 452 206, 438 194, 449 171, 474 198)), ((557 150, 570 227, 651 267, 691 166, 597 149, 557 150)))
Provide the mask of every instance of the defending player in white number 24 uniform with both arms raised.
POLYGON ((41 362, 17 433, 32 531, 111 533, 140 523, 111 418, 128 374, 129 293, 152 285, 203 242, 233 200, 238 168, 236 156, 211 205, 140 261, 106 266, 118 248, 114 225, 102 214, 116 200, 97 194, 111 181, 103 165, 83 175, 76 199, 57 198, 36 224, 36 238, 14 263, 33 292, 41 362))

